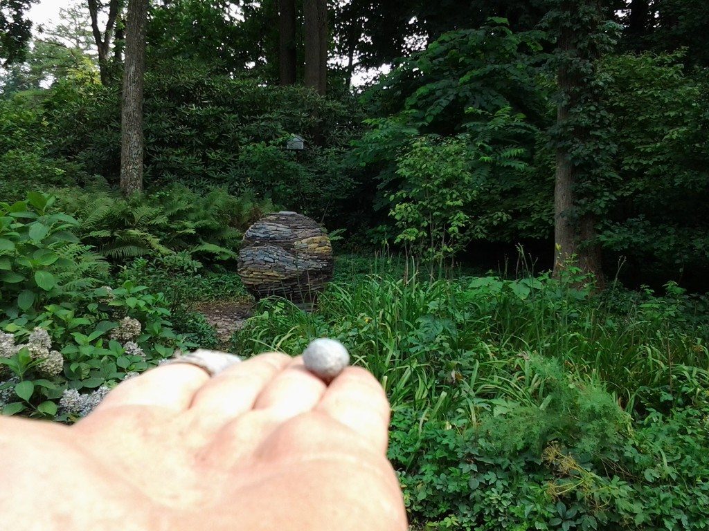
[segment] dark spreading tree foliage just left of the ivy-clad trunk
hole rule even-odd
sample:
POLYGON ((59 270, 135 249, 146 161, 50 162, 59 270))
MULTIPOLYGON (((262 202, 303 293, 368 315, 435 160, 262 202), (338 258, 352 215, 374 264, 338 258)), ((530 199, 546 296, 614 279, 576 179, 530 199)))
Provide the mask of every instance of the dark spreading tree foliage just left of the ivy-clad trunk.
POLYGON ((514 34, 505 21, 491 22, 442 35, 369 89, 364 102, 386 118, 368 120, 372 130, 357 142, 354 157, 380 183, 375 207, 395 208, 391 198, 407 193, 401 161, 415 139, 463 139, 469 153, 453 157, 449 168, 443 157, 436 173, 452 176, 467 159, 461 183, 474 176, 473 190, 466 183, 459 193, 476 192, 461 209, 474 225, 468 239, 540 236, 549 230, 552 186, 549 175, 538 176, 527 164, 547 114, 542 34, 514 34))

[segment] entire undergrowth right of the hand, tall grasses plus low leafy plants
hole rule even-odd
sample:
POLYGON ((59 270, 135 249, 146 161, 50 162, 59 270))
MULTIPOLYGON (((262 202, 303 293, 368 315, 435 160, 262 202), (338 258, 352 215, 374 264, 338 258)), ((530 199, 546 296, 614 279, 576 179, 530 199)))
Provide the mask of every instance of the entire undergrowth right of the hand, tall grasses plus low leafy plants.
MULTIPOLYGON (((340 339, 393 406, 389 457, 430 529, 705 529, 705 302, 573 279, 335 282, 261 302, 236 352, 340 339)), ((411 272, 409 272, 411 273, 411 272)), ((345 275, 340 275, 340 279, 345 275)))

